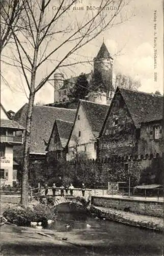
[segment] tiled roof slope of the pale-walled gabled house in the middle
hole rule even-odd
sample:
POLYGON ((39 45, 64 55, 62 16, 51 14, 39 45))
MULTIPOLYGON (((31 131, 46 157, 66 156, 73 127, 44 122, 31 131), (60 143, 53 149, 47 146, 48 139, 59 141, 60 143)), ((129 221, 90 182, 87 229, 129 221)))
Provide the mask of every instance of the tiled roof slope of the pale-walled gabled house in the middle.
POLYGON ((86 112, 93 134, 97 138, 101 131, 109 106, 87 100, 80 100, 80 104, 86 112))

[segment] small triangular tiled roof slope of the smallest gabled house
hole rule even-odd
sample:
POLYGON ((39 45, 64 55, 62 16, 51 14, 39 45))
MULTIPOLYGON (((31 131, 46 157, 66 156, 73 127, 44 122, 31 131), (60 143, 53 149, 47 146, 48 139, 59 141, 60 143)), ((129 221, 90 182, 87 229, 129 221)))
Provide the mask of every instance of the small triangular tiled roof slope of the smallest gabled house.
POLYGON ((67 145, 73 122, 68 122, 60 119, 56 119, 59 136, 61 139, 62 146, 65 147, 67 145))

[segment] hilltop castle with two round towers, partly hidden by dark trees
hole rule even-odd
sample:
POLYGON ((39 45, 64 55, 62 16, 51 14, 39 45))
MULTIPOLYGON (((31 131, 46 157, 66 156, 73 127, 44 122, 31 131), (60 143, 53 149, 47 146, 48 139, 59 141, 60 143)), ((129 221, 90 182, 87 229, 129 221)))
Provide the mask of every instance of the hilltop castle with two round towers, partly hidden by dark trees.
MULTIPOLYGON (((104 42, 97 56, 93 59, 93 62, 93 71, 86 74, 91 88, 86 96, 86 100, 95 103, 110 104, 114 96, 112 84, 113 58, 104 42)), ((77 78, 78 76, 64 79, 63 74, 54 74, 54 103, 69 101, 69 96, 74 90, 77 78)))

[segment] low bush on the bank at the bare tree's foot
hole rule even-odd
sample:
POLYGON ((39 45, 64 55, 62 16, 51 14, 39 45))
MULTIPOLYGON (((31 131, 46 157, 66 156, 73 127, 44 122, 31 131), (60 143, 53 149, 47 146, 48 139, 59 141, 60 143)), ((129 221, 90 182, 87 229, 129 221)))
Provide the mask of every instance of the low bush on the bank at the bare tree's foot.
POLYGON ((3 216, 11 223, 18 226, 30 226, 32 221, 42 222, 47 225, 48 220, 54 220, 56 217, 56 208, 49 205, 38 204, 31 208, 8 208, 3 216))

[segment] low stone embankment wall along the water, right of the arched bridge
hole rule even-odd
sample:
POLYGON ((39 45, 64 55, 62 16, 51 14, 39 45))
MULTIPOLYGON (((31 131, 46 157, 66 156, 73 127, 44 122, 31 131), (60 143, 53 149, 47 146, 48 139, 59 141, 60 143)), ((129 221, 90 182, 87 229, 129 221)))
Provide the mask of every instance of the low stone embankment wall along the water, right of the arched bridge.
POLYGON ((93 196, 92 203, 95 206, 118 210, 129 208, 128 210, 135 214, 163 217, 163 202, 93 196))

